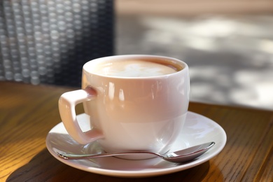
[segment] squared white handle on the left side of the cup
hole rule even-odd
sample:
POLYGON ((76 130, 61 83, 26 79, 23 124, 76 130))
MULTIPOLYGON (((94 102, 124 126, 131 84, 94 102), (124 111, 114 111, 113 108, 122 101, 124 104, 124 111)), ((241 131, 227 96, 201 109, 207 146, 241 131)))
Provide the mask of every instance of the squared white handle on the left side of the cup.
POLYGON ((92 141, 104 137, 102 132, 95 128, 83 132, 76 118, 76 104, 90 101, 94 99, 94 97, 97 97, 97 92, 90 87, 86 87, 83 90, 65 92, 59 97, 59 115, 62 118, 62 123, 64 123, 64 127, 69 135, 79 144, 89 144, 92 141))

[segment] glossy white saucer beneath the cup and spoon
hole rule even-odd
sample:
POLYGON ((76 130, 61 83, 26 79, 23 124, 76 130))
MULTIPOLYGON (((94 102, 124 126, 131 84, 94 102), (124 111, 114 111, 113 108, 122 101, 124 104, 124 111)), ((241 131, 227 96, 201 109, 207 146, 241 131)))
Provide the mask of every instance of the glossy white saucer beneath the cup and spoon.
MULTIPOLYGON (((82 130, 89 130, 90 126, 86 124, 88 122, 85 122, 89 120, 89 116, 83 113, 77 117, 78 120, 80 120, 79 124, 82 130)), ((87 145, 78 144, 67 134, 62 123, 57 124, 50 130, 46 138, 46 146, 48 151, 57 160, 86 172, 119 177, 146 177, 179 172, 207 162, 222 151, 226 140, 225 131, 220 125, 197 113, 188 112, 183 131, 170 152, 179 151, 183 148, 209 141, 216 142, 214 147, 207 151, 207 153, 188 163, 172 163, 161 160, 160 158, 123 160, 108 157, 94 160, 64 160, 57 156, 57 151, 64 151, 66 153, 101 153, 102 148, 97 142, 87 145)))

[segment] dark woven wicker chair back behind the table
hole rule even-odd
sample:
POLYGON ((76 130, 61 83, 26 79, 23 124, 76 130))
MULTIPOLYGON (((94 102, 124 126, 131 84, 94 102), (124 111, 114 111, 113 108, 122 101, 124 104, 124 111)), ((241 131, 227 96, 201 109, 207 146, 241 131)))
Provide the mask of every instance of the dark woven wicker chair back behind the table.
POLYGON ((112 0, 0 1, 0 80, 80 86, 82 67, 113 55, 112 0))

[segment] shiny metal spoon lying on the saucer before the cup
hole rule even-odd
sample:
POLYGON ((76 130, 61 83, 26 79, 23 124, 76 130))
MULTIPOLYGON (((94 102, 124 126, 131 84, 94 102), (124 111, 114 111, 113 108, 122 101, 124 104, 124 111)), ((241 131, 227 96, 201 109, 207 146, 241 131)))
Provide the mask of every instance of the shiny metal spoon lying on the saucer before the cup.
POLYGON ((214 146, 215 142, 209 142, 206 144, 201 144, 198 146, 192 146, 190 148, 183 149, 181 151, 176 151, 172 153, 165 153, 160 155, 158 153, 151 153, 148 151, 133 151, 133 152, 125 152, 125 153, 99 153, 99 154, 69 154, 69 153, 57 153, 60 158, 65 160, 83 160, 83 159, 92 159, 92 158, 102 158, 109 156, 118 156, 118 155, 136 155, 136 154, 152 154, 156 155, 163 160, 167 160, 169 162, 187 162, 189 160, 193 160, 203 153, 207 152, 212 146, 214 146))

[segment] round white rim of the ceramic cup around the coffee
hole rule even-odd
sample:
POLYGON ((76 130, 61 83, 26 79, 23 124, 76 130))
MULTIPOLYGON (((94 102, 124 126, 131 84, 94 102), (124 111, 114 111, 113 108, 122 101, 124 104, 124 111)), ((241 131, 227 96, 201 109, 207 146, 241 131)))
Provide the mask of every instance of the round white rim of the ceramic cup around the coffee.
POLYGON ((175 76, 177 74, 180 74, 182 72, 185 72, 188 70, 188 64, 186 64, 186 62, 181 61, 180 59, 176 59, 174 57, 167 57, 167 56, 161 56, 161 55, 112 55, 112 56, 106 56, 106 57, 99 57, 96 59, 92 59, 88 62, 86 62, 83 65, 83 71, 85 71, 86 73, 90 73, 92 75, 97 75, 97 76, 102 76, 105 78, 122 78, 122 79, 149 79, 149 78, 165 78, 165 77, 169 77, 169 76, 175 76), (92 64, 97 64, 97 62, 102 62, 102 60, 109 61, 110 59, 126 59, 126 58, 142 58, 144 59, 145 57, 148 58, 158 58, 161 60, 168 60, 174 64, 180 64, 180 66, 183 66, 183 69, 176 71, 175 73, 169 73, 169 74, 165 74, 165 75, 160 75, 160 76, 140 76, 140 77, 132 77, 132 76, 109 76, 109 75, 104 75, 104 74, 100 74, 100 73, 92 73, 92 71, 87 69, 87 66, 92 66, 92 64), (91 65, 90 65, 91 64, 91 65))

